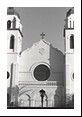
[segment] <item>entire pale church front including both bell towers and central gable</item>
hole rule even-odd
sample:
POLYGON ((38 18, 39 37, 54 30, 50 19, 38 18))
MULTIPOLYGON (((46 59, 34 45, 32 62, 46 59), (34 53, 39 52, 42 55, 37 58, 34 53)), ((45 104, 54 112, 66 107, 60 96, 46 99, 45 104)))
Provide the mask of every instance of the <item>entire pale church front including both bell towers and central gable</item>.
MULTIPOLYGON (((43 34, 43 33, 42 33, 43 34)), ((67 12, 64 54, 43 38, 22 51, 22 25, 7 9, 7 106, 66 107, 74 99, 74 9, 67 12)))

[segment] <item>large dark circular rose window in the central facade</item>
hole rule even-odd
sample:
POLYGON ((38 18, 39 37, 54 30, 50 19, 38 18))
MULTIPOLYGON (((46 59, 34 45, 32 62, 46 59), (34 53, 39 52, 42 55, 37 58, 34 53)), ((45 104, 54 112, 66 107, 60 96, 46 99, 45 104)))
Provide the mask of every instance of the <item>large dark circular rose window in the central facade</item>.
POLYGON ((46 65, 38 65, 34 69, 34 77, 38 81, 45 81, 49 78, 50 76, 50 69, 46 65))

